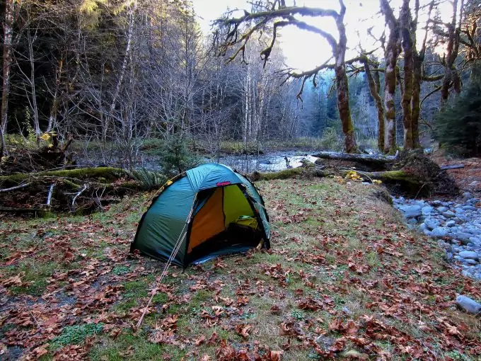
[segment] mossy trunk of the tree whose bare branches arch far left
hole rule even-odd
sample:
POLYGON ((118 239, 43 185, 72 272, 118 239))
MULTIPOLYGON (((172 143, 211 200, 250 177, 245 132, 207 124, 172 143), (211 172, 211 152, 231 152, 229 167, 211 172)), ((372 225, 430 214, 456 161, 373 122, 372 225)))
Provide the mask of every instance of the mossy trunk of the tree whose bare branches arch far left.
POLYGON ((349 108, 349 81, 345 63, 347 37, 346 28, 344 27, 344 14, 346 13, 346 6, 344 6, 342 0, 340 0, 340 4, 340 16, 336 18, 339 42, 335 51, 337 108, 339 109, 339 117, 342 122, 342 132, 344 132, 344 150, 347 153, 356 153, 358 149, 354 135, 354 125, 352 124, 351 108, 349 108))

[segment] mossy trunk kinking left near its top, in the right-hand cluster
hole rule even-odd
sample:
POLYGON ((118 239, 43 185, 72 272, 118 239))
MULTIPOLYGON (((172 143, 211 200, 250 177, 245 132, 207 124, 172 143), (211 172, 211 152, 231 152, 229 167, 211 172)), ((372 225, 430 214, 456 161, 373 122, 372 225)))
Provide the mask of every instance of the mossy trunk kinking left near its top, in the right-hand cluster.
POLYGON ((389 38, 386 45, 386 70, 384 74, 384 151, 394 152, 396 148, 395 137, 395 102, 396 91, 396 64, 398 63, 399 28, 393 9, 388 0, 381 0, 381 12, 389 26, 389 38))

